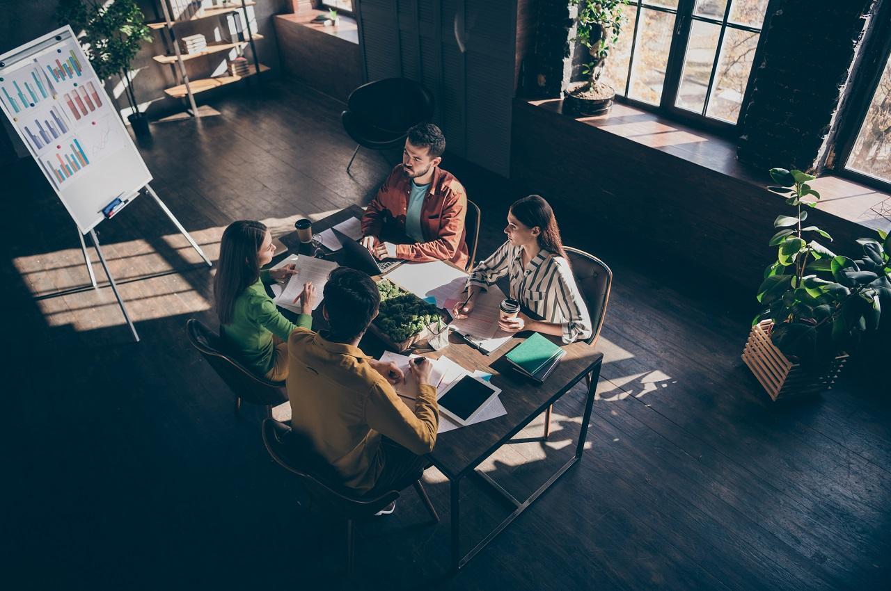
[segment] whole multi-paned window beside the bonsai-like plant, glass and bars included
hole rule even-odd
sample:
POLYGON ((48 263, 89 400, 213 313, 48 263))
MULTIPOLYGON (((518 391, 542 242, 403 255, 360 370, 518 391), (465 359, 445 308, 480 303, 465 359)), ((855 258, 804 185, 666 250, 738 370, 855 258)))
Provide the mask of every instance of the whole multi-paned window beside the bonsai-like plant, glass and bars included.
POLYGON ((768 0, 630 0, 601 79, 629 101, 736 125, 768 0))

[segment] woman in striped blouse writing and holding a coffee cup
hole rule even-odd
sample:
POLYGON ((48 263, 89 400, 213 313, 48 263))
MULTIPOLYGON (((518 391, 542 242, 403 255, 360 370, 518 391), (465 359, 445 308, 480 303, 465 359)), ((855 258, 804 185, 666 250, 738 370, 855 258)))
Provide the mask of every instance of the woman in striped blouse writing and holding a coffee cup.
POLYGON ((510 297, 519 302, 521 311, 516 318, 499 322, 503 330, 535 330, 562 336, 564 343, 591 336, 591 316, 572 276, 548 202, 538 195, 519 199, 508 212, 504 233, 507 242, 470 271, 463 304, 454 306, 453 316, 467 317, 479 292, 507 275, 510 297))

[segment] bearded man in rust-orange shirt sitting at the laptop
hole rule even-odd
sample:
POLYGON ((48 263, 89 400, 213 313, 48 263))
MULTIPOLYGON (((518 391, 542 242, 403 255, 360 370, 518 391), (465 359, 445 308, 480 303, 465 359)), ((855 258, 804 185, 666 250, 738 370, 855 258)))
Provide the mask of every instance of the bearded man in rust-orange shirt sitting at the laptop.
POLYGON ((439 167, 446 138, 436 125, 408 130, 396 165, 362 218, 362 244, 379 259, 468 263, 464 216, 467 194, 439 167))

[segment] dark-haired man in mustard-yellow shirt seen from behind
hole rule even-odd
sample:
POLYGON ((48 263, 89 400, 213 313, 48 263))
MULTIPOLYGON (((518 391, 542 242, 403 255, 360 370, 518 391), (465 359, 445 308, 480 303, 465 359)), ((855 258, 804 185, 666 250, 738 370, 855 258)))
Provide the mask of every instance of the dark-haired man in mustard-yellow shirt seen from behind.
POLYGON ((306 436, 345 486, 363 493, 402 490, 417 481, 437 441, 437 391, 431 363, 412 363, 420 385, 414 409, 393 384, 404 379, 395 364, 359 349, 378 313, 380 294, 361 271, 338 268, 323 292, 330 328, 296 328, 288 339, 291 427, 306 436))

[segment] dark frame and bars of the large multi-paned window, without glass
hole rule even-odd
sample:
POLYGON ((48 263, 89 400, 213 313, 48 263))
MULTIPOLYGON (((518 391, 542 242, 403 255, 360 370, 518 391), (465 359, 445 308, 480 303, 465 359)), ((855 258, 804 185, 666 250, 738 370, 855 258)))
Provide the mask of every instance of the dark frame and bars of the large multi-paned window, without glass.
MULTIPOLYGON (((746 0, 733 1, 745 2, 746 0)), ((730 14, 732 2, 728 2, 727 5, 724 7, 723 20, 716 20, 710 17, 694 17, 693 9, 696 7, 696 0, 678 0, 677 8, 667 8, 665 6, 653 5, 650 3, 649 0, 642 0, 642 2, 640 2, 639 4, 637 0, 629 0, 629 5, 637 6, 638 14, 634 19, 634 23, 630 23, 632 26, 628 27, 628 23, 626 23, 626 28, 623 31, 629 31, 632 34, 631 57, 628 61, 628 74, 625 77, 625 89, 623 91, 623 94, 616 95, 616 101, 633 105, 635 108, 650 110, 658 114, 666 115, 667 117, 674 120, 679 120, 686 124, 691 124, 696 127, 707 129, 707 131, 713 132, 715 134, 724 136, 735 135, 740 125, 741 118, 745 116, 745 106, 748 104, 748 100, 752 92, 752 81, 755 78, 756 69, 760 64, 762 55, 764 53, 764 39, 766 38, 765 31, 766 28, 769 26, 768 16, 772 13, 772 9, 777 2, 779 2, 779 0, 769 0, 769 2, 767 3, 767 7, 764 11, 764 21, 762 22, 760 29, 735 24, 724 25, 721 28, 721 34, 718 37, 717 50, 715 51, 715 58, 712 62, 712 72, 709 77, 709 88, 707 88, 706 90, 706 107, 708 104, 708 98, 710 97, 712 90, 710 86, 714 82, 715 73, 717 70, 717 61, 721 58, 720 50, 721 44, 723 43, 724 32, 729 27, 748 30, 751 32, 758 32, 758 45, 756 46, 755 55, 752 58, 752 68, 749 69, 748 72, 746 90, 742 95, 740 119, 738 119, 736 123, 729 123, 727 121, 723 121, 723 119, 717 119, 715 117, 707 117, 702 113, 697 113, 695 111, 691 111, 690 109, 683 109, 681 107, 677 107, 674 104, 675 101, 677 101, 677 93, 681 87, 681 77, 683 76, 683 61, 686 57, 687 45, 690 44, 690 33, 693 21, 701 20, 704 22, 710 22, 718 26, 722 26, 724 21, 727 20, 730 14), (672 40, 671 45, 668 49, 668 60, 666 61, 666 74, 662 87, 662 96, 659 98, 658 105, 654 105, 646 101, 641 101, 627 95, 631 85, 631 70, 634 67, 634 50, 637 45, 637 27, 640 23, 639 13, 641 9, 666 12, 675 15, 674 27, 672 28, 672 40)), ((609 60, 609 58, 607 59, 609 60)))

